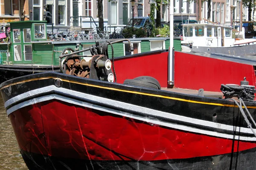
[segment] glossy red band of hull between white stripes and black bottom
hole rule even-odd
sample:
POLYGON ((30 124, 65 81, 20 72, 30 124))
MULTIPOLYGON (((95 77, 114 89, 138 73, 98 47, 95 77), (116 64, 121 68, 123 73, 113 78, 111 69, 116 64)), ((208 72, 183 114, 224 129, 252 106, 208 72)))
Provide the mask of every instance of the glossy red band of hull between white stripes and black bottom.
POLYGON ((51 100, 9 115, 20 150, 91 160, 215 156, 256 143, 195 134, 51 100), (121 157, 122 156, 122 159, 121 157))

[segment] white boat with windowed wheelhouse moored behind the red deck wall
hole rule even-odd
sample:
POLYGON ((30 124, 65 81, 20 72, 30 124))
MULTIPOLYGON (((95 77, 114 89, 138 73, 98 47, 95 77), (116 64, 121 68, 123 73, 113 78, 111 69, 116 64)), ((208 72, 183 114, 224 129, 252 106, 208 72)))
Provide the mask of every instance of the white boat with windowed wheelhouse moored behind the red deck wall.
MULTIPOLYGON (((239 32, 241 35, 242 32, 239 32)), ((238 31, 231 26, 213 23, 183 24, 183 52, 256 55, 256 38, 235 38, 238 31)), ((241 35, 241 37, 243 37, 241 35)))

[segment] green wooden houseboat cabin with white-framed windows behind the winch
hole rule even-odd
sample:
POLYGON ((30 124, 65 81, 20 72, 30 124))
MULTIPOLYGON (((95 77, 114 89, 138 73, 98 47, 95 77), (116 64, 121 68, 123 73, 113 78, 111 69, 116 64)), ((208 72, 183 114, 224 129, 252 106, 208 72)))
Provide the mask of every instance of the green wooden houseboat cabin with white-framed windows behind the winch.
MULTIPOLYGON (((47 40, 47 21, 17 21, 11 22, 9 43, 0 43, 0 64, 26 65, 58 65, 59 55, 69 47, 72 49, 86 49, 96 40, 50 41, 47 40)), ((110 39, 114 41, 114 39, 110 39)), ((157 49, 169 49, 169 37, 131 38, 134 52, 129 52, 128 42, 113 44, 114 57, 149 52, 157 49)), ((105 40, 99 40, 105 41, 105 40)), ((174 38, 176 51, 181 51, 180 38, 174 38)), ((108 47, 111 58, 111 47, 108 47)), ((90 57, 90 52, 84 54, 90 57)))

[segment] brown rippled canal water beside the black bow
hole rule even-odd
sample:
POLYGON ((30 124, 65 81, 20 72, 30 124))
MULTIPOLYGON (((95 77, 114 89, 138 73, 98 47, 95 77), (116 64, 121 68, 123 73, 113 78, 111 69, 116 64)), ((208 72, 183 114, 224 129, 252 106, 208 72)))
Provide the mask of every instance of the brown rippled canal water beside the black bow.
POLYGON ((0 97, 0 170, 28 170, 0 97))

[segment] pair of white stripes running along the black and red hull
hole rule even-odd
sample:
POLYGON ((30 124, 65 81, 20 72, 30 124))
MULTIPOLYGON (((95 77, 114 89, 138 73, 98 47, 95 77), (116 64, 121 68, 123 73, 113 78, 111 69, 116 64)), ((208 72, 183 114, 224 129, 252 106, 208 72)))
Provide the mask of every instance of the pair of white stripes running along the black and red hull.
MULTIPOLYGON (((28 101, 23 101, 20 104, 17 104, 11 108, 9 108, 7 110, 7 115, 11 114, 12 112, 16 111, 17 109, 20 109, 22 107, 26 107, 32 104, 36 104, 36 103, 40 103, 43 101, 49 101, 52 99, 57 99, 60 101, 64 101, 67 103, 71 103, 71 104, 76 104, 78 106, 83 106, 83 107, 88 107, 91 109, 96 109, 96 110, 100 110, 103 112, 110 112, 116 115, 121 115, 121 116, 125 116, 125 117, 129 117, 129 118, 134 118, 137 120, 141 120, 141 121, 145 121, 145 122, 149 122, 152 124, 158 124, 161 126, 165 126, 165 127, 170 127, 170 128, 174 128, 174 129, 178 129, 178 130, 183 130, 183 131, 188 131, 188 132, 192 132, 192 133, 201 133, 201 134, 205 134, 205 135, 211 135, 211 136, 216 136, 219 138, 230 138, 230 139, 236 139, 236 140, 242 140, 242 141, 256 141, 255 137, 243 137, 243 136, 239 136, 239 135, 230 135, 230 134, 225 134, 225 133, 220 133, 220 132, 214 132, 214 131, 209 131, 209 130, 201 130, 195 127, 189 127, 189 126, 185 126, 185 125, 180 125, 180 124, 174 124, 174 123, 169 123, 166 121, 161 121, 158 120, 156 118, 152 118, 154 116, 158 116, 158 117, 162 117, 165 119, 169 119, 170 121, 172 120, 172 122, 174 121, 183 121, 185 123, 190 123, 190 124, 195 124, 197 126, 204 126, 204 127, 209 127, 209 128, 215 128, 216 130, 228 130, 228 131, 233 131, 235 129, 235 131, 237 133, 247 133, 248 135, 253 135, 252 131, 249 128, 244 128, 244 127, 233 127, 230 125, 226 125, 226 124, 219 124, 219 123, 215 123, 215 122, 211 122, 211 121, 204 121, 204 120, 200 120, 200 119, 196 119, 196 118, 189 118, 186 116, 181 116, 181 115, 175 115, 172 113, 167 113, 167 112, 161 112, 158 110, 154 110, 154 109, 148 109, 146 107, 140 107, 137 105, 133 105, 133 104, 128 104, 125 102, 120 102, 120 101, 115 101, 115 100, 111 100, 108 98, 102 98, 102 97, 98 97, 98 96, 94 96, 94 95, 88 95, 85 93, 81 93, 81 92, 76 92, 70 89, 64 89, 64 88, 58 88, 54 85, 52 86, 47 86, 41 89, 35 89, 26 93, 23 93, 21 95, 17 95, 14 98, 9 99, 8 101, 6 101, 5 103, 5 107, 8 107, 10 104, 14 103, 15 101, 19 101, 22 100, 26 97, 32 97, 34 95, 38 95, 41 93, 45 93, 45 92, 53 92, 53 91, 58 91, 58 92, 62 92, 65 94, 72 94, 74 97, 80 97, 80 98, 86 98, 87 100, 90 101, 94 101, 94 102, 98 102, 101 104, 105 104, 106 106, 111 106, 111 107, 116 107, 116 108, 120 108, 120 109, 127 109, 130 110, 131 112, 140 112, 143 113, 145 116, 141 116, 141 115, 134 115, 128 112, 122 112, 118 109, 111 109, 108 107, 102 107, 96 104, 90 104, 87 102, 83 102, 83 101, 79 101, 76 99, 72 99, 72 98, 67 98, 61 95, 56 95, 56 94, 51 94, 51 95, 45 95, 42 97, 38 97, 38 98, 33 98, 31 100, 28 101)), ((167 120, 168 121, 168 120, 167 120)), ((254 129, 256 131, 256 129, 254 129)))

